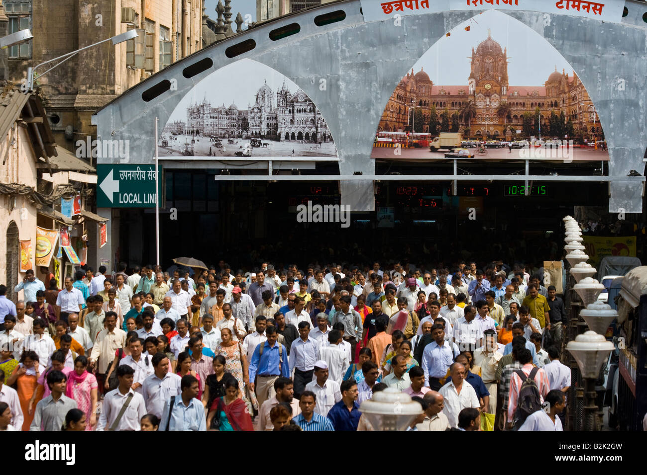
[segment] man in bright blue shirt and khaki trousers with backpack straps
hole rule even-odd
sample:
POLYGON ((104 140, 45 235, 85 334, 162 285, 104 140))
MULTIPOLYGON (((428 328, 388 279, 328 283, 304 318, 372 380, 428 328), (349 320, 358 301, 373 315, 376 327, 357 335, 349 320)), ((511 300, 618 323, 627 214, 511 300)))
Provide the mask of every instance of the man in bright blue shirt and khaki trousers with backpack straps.
POLYGON ((249 388, 251 391, 255 389, 254 381, 258 375, 256 397, 258 398, 259 407, 270 397, 276 396, 274 381, 279 376, 290 377, 287 350, 285 346, 276 341, 278 337, 276 327, 268 326, 265 329, 265 336, 267 341, 256 346, 256 350, 252 354, 252 361, 249 363, 249 388))

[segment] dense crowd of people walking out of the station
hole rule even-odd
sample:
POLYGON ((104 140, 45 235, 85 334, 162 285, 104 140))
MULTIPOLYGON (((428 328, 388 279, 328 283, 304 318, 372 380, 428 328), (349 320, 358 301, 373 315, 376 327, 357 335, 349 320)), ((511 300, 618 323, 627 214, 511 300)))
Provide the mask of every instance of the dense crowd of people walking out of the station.
POLYGON ((17 304, 0 285, 0 430, 380 430, 380 391, 419 403, 408 430, 563 428, 566 313, 540 269, 170 270, 27 271, 17 304))

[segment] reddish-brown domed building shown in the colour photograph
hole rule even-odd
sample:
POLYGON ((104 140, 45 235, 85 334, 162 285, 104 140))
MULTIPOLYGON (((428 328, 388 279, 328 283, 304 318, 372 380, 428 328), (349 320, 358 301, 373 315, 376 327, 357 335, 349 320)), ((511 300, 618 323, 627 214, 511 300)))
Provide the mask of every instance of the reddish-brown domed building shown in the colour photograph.
MULTIPOLYGON (((411 125, 410 108, 422 112, 422 131, 437 135, 429 130, 432 106, 437 116, 447 111, 449 116, 457 114, 460 130, 466 136, 476 138, 505 137, 508 129, 516 135, 523 125, 524 114, 541 112, 542 131, 549 132, 551 114, 571 121, 573 129, 585 138, 600 134, 600 122, 593 108, 586 88, 573 72, 569 76, 557 69, 542 86, 509 85, 507 48, 488 36, 470 56, 470 76, 466 85, 435 85, 428 74, 421 70, 407 73, 391 94, 386 105, 378 131, 404 131, 411 125), (466 116, 468 103, 474 103, 475 113, 466 116), (508 116, 499 116, 499 106, 510 105, 508 116)), ((440 120, 439 120, 440 123, 440 120)), ((440 127, 440 125, 438 126, 440 127)), ((508 133, 510 136, 510 132, 508 133)))

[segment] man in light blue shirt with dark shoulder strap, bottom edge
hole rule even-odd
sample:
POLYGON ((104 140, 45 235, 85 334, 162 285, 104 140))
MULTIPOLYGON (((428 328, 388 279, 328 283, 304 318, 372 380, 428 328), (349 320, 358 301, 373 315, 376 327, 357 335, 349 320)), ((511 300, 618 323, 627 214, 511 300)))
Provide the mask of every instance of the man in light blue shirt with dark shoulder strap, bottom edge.
POLYGON ((171 396, 164 404, 159 430, 206 430, 204 406, 197 399, 197 377, 182 376, 180 388, 181 396, 171 396))

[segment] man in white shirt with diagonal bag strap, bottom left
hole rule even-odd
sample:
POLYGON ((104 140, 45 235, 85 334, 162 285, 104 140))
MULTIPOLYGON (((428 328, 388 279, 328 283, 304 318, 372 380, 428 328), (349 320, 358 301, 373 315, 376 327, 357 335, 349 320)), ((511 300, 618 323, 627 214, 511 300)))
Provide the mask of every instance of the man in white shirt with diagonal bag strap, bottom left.
POLYGON ((141 430, 140 421, 146 416, 146 403, 144 397, 132 388, 135 370, 120 364, 116 372, 119 386, 105 395, 96 430, 141 430), (124 414, 117 420, 126 403, 124 414))

